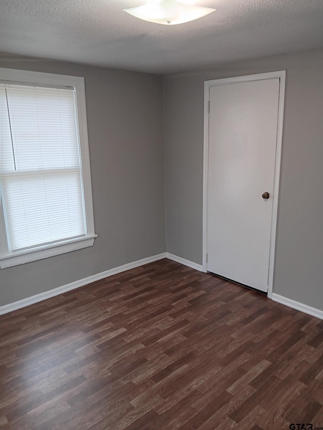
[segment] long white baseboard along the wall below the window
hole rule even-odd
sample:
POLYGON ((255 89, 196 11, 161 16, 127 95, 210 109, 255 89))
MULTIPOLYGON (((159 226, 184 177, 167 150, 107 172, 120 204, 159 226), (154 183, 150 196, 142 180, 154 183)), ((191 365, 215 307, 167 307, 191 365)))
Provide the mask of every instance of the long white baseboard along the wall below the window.
POLYGON ((91 282, 98 281, 100 279, 107 278, 109 276, 116 275, 117 273, 125 272, 126 270, 134 269, 135 267, 143 266, 144 264, 152 263, 153 261, 161 260, 163 258, 166 258, 166 253, 143 258, 141 260, 133 261, 132 263, 123 264, 122 266, 105 270, 104 272, 97 273, 96 275, 88 276, 87 278, 71 282, 70 284, 66 284, 49 291, 44 291, 43 293, 15 301, 14 303, 5 304, 4 306, 0 306, 0 315, 8 314, 9 312, 16 311, 17 309, 25 308, 25 306, 29 306, 30 304, 38 303, 39 301, 74 290, 75 288, 83 287, 84 285, 90 284, 91 282))

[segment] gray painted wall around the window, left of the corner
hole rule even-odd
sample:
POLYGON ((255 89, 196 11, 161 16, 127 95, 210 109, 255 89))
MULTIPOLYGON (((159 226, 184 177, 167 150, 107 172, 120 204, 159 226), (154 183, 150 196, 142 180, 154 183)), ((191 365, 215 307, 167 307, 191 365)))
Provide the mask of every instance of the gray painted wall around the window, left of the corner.
POLYGON ((0 305, 165 252, 161 78, 5 54, 0 67, 85 78, 98 235, 91 248, 0 270, 0 305))

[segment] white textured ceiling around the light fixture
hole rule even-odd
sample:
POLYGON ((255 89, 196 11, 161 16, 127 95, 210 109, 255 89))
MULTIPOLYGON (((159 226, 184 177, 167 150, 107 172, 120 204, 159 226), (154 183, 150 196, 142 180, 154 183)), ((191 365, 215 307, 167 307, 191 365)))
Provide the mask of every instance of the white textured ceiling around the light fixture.
POLYGON ((169 73, 323 46, 323 0, 197 0, 217 11, 175 26, 122 11, 144 3, 0 0, 0 51, 169 73))

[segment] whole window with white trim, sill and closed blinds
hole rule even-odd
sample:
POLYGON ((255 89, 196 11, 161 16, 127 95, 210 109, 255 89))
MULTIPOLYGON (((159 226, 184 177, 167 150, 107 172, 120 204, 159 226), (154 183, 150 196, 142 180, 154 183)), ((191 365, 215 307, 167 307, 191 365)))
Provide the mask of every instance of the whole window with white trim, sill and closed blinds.
POLYGON ((83 78, 0 69, 0 267, 94 237, 83 78))

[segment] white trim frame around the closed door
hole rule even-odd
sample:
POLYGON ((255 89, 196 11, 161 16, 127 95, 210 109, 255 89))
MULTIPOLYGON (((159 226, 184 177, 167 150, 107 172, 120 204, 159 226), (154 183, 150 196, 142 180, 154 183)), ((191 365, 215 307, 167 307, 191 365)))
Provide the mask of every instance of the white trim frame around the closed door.
POLYGON ((282 141, 283 141, 283 122, 284 122, 284 102, 285 102, 285 76, 286 71, 260 73, 257 75, 237 76, 235 78, 214 79, 204 81, 204 155, 203 155, 203 259, 202 270, 207 271, 207 192, 208 192, 208 122, 209 122, 209 94, 210 87, 218 85, 236 84, 240 82, 260 81, 264 79, 280 79, 279 85, 279 106, 278 106, 278 126, 277 126, 277 143, 276 143, 276 161, 275 161, 275 176, 274 176, 274 200, 272 213, 272 233, 270 243, 269 257, 269 276, 268 276, 268 297, 272 298, 273 281, 274 281, 274 265, 275 265, 275 247, 276 247, 276 229, 277 229, 277 214, 278 214, 278 194, 279 180, 281 171, 282 158, 282 141))

